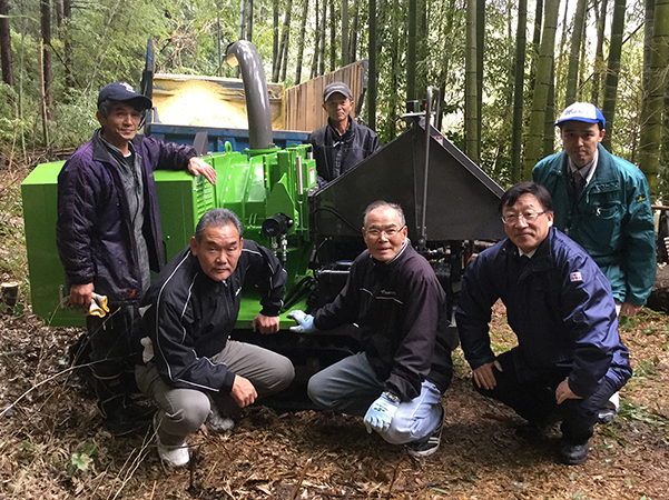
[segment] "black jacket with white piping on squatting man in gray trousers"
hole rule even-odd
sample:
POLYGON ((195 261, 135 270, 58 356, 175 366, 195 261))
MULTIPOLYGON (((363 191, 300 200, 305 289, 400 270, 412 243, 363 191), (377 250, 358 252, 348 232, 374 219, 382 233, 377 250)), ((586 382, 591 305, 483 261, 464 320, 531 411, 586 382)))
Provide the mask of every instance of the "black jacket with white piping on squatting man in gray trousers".
POLYGON ((235 271, 224 281, 205 274, 186 247, 156 277, 142 300, 150 306, 141 337, 154 344, 154 362, 175 388, 229 392, 235 373, 211 357, 225 347, 239 314, 242 288, 257 287, 260 313, 276 317, 286 291, 286 271, 274 253, 252 240, 235 271))

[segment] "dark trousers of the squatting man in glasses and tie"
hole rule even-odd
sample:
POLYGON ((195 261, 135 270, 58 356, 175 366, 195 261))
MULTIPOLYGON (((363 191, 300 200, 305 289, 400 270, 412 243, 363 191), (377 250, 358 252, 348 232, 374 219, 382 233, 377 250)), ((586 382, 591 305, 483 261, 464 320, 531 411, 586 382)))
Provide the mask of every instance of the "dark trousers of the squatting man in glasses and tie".
MULTIPOLYGON (((616 392, 613 383, 603 379, 592 396, 583 399, 568 399, 558 404, 555 389, 569 376, 571 368, 551 370, 530 370, 520 367, 513 350, 498 357, 503 371, 493 367, 496 386, 492 390, 476 388, 489 398, 496 399, 540 428, 545 427, 555 417, 562 419, 562 439, 571 444, 580 444, 592 436, 597 422, 597 411, 603 408, 616 392)), ((474 384, 475 387, 475 384, 474 384)))

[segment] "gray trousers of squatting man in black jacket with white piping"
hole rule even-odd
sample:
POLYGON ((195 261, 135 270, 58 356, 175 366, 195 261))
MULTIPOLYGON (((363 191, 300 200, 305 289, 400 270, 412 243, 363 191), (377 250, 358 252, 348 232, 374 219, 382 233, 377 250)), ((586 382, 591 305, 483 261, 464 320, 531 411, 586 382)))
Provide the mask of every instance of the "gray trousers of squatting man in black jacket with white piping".
MULTIPOLYGON (((233 373, 248 379, 258 398, 278 392, 291 384, 295 368, 288 358, 250 343, 229 341, 211 361, 225 363, 233 373)), ((177 389, 168 386, 153 362, 135 368, 137 387, 158 406, 155 422, 164 446, 180 446, 207 420, 214 402, 223 414, 239 407, 229 393, 177 389)))

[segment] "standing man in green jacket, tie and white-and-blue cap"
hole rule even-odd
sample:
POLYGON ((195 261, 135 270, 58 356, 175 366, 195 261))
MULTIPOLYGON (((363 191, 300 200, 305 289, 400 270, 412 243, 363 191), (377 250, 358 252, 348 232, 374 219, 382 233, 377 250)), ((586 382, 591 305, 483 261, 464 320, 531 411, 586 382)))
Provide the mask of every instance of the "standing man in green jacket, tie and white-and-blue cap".
MULTIPOLYGON (((607 121, 588 102, 569 106, 555 122, 564 151, 541 160, 532 171, 553 200, 554 226, 594 259, 613 290, 618 313, 636 316, 656 274, 655 222, 643 172, 607 151, 607 121)), ((608 421, 620 409, 618 394, 608 421)))

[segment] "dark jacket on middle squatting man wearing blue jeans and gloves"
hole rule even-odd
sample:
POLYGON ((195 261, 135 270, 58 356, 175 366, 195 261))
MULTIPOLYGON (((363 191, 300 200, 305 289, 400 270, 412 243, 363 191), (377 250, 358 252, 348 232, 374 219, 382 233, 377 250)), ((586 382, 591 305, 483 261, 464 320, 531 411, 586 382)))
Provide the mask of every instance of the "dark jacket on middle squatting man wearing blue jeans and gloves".
POLYGON ((406 240, 400 253, 380 262, 362 252, 344 290, 314 317, 319 330, 356 324, 360 340, 385 390, 410 401, 430 380, 440 391, 451 382, 445 334, 445 293, 430 263, 406 240))

